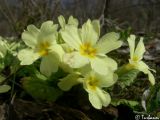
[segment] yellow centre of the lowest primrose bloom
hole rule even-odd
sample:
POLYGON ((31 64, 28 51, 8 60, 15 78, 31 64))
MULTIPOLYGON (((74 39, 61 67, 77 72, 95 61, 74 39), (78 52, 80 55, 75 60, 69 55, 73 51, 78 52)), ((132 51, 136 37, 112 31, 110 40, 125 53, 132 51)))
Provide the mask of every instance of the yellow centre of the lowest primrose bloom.
POLYGON ((95 90, 99 83, 99 81, 94 76, 90 76, 86 80, 86 82, 87 82, 87 87, 91 90, 95 90))

